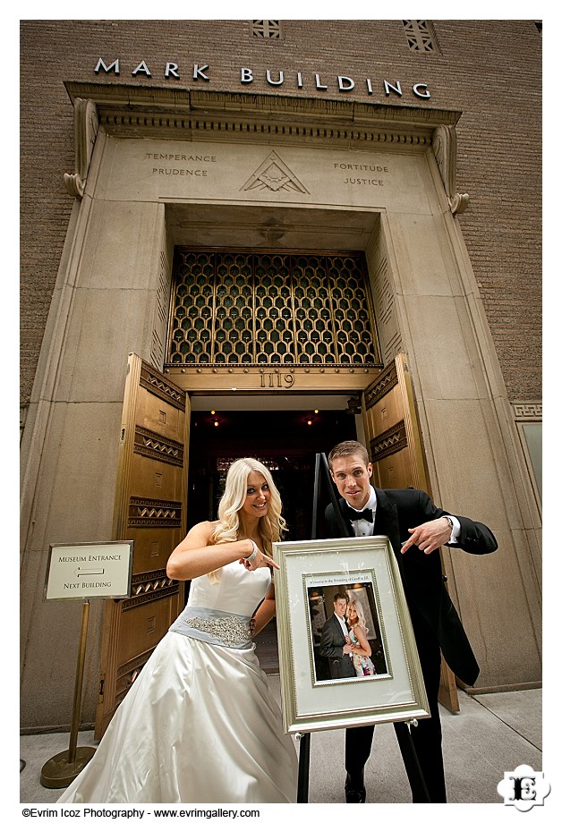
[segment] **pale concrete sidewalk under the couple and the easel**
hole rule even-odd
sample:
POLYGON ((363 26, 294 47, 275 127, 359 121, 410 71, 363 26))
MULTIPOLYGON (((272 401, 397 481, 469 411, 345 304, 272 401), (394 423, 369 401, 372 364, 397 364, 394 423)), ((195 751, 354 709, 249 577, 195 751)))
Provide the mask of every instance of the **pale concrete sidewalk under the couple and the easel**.
MULTIPOLYGON (((279 700, 279 676, 268 675, 271 691, 279 700)), ((440 709, 443 753, 449 803, 503 803, 497 786, 505 771, 525 764, 542 768, 542 691, 508 691, 469 697, 459 691, 460 712, 440 709)), ((344 803, 344 731, 311 734, 310 803, 344 803)), ((21 736, 20 774, 22 803, 52 803, 64 789, 40 785, 41 769, 48 759, 66 751, 70 735, 21 736)), ((94 745, 92 732, 81 732, 79 746, 94 745)), ((550 776, 550 779, 553 776, 550 776)), ((549 779, 549 775, 545 774, 549 779)), ((365 768, 368 803, 411 803, 396 735, 390 724, 375 732, 365 768)))

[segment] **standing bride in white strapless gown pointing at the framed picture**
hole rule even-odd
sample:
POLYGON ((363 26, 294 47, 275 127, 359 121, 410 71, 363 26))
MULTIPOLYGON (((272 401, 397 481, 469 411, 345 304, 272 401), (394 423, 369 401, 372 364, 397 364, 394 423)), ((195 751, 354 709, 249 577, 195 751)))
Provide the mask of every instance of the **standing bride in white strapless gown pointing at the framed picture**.
POLYGON ((168 577, 192 581, 187 606, 57 802, 296 802, 294 742, 250 628, 275 614, 271 544, 283 530, 268 469, 236 460, 218 520, 193 526, 169 557, 168 577))

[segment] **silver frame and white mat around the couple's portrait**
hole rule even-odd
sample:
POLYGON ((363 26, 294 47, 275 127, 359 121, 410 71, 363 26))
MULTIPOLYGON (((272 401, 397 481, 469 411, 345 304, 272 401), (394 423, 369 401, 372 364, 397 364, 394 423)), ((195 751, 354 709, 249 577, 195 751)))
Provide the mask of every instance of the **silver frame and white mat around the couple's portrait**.
POLYGON ((273 544, 279 671, 285 733, 430 717, 410 613, 390 541, 385 537, 273 544), (372 581, 388 672, 316 681, 307 584, 372 581))

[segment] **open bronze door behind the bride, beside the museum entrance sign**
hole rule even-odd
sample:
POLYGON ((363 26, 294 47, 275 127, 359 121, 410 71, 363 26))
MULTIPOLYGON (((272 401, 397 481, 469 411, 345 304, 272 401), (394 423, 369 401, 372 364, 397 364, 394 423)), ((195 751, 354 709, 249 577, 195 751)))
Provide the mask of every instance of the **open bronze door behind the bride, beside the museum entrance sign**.
POLYGON ((166 562, 185 534, 188 403, 168 378, 129 356, 113 539, 134 541, 132 590, 106 602, 97 739, 183 607, 183 584, 166 577, 166 562))

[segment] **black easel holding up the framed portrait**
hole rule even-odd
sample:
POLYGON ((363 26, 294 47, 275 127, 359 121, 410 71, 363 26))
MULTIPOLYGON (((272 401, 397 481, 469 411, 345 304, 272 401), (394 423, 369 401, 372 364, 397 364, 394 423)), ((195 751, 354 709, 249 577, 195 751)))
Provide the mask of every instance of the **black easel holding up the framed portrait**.
MULTIPOLYGON (((328 460, 326 459, 326 454, 317 454, 316 465, 314 470, 314 500, 312 502, 311 539, 315 540, 317 537, 316 532, 319 516, 318 508, 320 498, 320 480, 322 472, 325 479, 327 480, 330 502, 334 507, 334 513, 336 514, 337 528, 339 530, 340 537, 348 537, 349 535, 345 528, 344 518, 342 517, 339 505, 337 505, 336 493, 332 485, 332 479, 329 473, 328 460)), ((422 796, 425 798, 421 802, 429 803, 430 795, 428 794, 425 781, 423 780, 423 775, 421 774, 420 761, 418 760, 418 756, 415 752, 415 749, 413 748, 413 741, 410 731, 408 729, 408 723, 403 720, 393 725, 395 727, 398 746, 400 748, 400 753, 402 754, 402 759, 404 760, 404 768, 406 770, 406 775, 408 777, 408 782, 410 783, 412 792, 414 794, 417 794, 418 796, 422 796)), ((306 732, 304 734, 297 734, 296 736, 299 740, 299 783, 297 789, 296 802, 308 803, 309 774, 311 763, 311 733, 306 732)))

